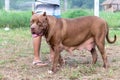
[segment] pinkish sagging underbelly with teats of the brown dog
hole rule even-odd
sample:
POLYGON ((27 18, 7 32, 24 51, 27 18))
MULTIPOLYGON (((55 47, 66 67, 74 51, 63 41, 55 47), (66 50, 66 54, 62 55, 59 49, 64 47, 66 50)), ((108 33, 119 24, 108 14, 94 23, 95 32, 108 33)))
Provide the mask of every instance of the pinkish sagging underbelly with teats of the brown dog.
POLYGON ((90 51, 93 47, 95 47, 95 42, 93 38, 86 40, 84 43, 78 46, 69 47, 69 46, 61 44, 61 48, 68 51, 69 53, 72 53, 73 50, 83 50, 83 49, 87 49, 90 51))

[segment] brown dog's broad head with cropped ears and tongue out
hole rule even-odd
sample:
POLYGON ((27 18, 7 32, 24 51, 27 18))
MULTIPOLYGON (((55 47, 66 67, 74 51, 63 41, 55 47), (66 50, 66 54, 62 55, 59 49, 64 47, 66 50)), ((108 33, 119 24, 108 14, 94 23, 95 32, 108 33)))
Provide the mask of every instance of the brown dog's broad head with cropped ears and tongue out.
POLYGON ((30 27, 32 34, 44 35, 48 27, 46 12, 41 15, 32 13, 30 27))

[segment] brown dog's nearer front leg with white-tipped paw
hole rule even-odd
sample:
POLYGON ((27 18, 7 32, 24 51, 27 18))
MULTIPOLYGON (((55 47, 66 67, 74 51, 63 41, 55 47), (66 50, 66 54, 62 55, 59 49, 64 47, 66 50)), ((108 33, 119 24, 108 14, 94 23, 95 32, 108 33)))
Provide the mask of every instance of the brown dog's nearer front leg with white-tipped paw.
POLYGON ((59 55, 60 55, 59 46, 55 46, 54 51, 55 51, 55 54, 54 54, 54 58, 53 58, 52 72, 55 73, 57 71, 57 64, 58 64, 59 55))

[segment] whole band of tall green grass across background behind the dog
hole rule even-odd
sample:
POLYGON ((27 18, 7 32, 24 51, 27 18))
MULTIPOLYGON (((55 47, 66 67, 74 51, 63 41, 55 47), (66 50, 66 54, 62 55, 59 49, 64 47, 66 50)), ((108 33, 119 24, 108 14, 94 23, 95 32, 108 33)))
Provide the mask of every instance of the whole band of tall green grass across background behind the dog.
MULTIPOLYGON (((111 28, 120 27, 120 12, 100 12, 100 17, 105 19, 111 28)), ((74 9, 62 13, 63 18, 75 18, 80 16, 93 15, 93 10, 74 9)), ((0 11, 0 28, 6 27, 19 28, 29 27, 31 11, 0 11)))

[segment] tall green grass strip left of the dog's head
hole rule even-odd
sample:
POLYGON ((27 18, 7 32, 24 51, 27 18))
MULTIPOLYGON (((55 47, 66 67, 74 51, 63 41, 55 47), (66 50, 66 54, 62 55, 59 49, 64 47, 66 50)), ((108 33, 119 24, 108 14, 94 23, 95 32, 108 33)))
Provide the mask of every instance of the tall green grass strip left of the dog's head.
POLYGON ((0 11, 0 27, 19 28, 29 27, 31 12, 22 11, 0 11))

